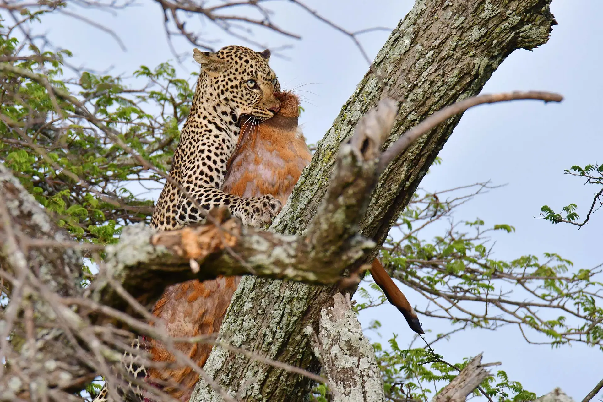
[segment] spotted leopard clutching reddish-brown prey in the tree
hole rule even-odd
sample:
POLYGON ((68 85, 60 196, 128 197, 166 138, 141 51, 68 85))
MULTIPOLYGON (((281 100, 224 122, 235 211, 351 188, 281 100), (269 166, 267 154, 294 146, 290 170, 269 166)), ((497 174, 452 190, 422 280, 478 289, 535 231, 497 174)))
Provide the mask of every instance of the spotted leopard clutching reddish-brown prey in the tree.
MULTIPOLYGON (((280 110, 280 83, 268 64, 270 55, 268 49, 256 52, 237 45, 216 52, 193 50, 201 72, 174 151, 169 179, 151 216, 151 228, 177 230, 203 222, 209 210, 216 207, 225 207, 244 225, 264 227, 280 212, 282 202, 270 194, 242 197, 221 190, 241 134, 239 119, 253 116, 262 122, 280 110)), ((224 279, 213 280, 213 286, 221 286, 219 281, 224 279)), ((212 286, 210 282, 204 281, 208 288, 212 286)), ((169 290, 168 287, 166 292, 169 290)), ((138 339, 133 348, 140 348, 138 339)), ((122 363, 133 378, 145 378, 148 374, 129 353, 124 354, 122 363)), ((126 382, 128 389, 118 389, 119 396, 142 400, 139 387, 126 382)), ((93 402, 106 401, 112 398, 105 384, 93 402)))

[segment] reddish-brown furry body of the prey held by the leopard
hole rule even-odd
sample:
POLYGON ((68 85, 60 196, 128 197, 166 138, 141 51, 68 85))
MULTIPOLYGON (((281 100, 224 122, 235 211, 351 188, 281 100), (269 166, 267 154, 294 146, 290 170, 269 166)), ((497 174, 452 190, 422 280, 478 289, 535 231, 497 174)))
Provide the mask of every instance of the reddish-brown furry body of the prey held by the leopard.
MULTIPOLYGON (((249 115, 240 119, 241 134, 227 165, 224 192, 244 198, 271 194, 285 204, 310 162, 311 153, 298 128, 299 99, 286 91, 276 96, 281 102, 277 115, 263 122, 249 115)), ((240 276, 231 276, 170 286, 153 307, 153 315, 163 320, 166 331, 175 338, 216 333, 240 280, 240 276)), ((200 367, 212 351, 210 342, 175 342, 173 346, 200 367)), ((149 339, 147 350, 159 364, 150 368, 145 382, 188 401, 199 378, 197 372, 191 366, 178 365, 159 340, 149 339)))

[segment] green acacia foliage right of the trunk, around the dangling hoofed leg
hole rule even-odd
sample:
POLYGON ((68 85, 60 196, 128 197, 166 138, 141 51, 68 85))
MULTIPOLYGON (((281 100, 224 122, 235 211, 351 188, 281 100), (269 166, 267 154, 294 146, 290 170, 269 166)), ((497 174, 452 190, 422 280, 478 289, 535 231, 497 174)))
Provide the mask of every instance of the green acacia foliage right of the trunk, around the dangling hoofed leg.
MULTIPOLYGON (((513 325, 518 341, 551 347, 581 342, 603 350, 601 266, 577 269, 555 253, 499 259, 493 237, 498 234, 500 241, 513 236, 514 227, 488 227, 479 218, 455 220, 459 207, 491 190, 496 187, 490 183, 440 192, 419 190, 382 247, 385 268, 406 286, 403 291, 416 292, 407 296, 412 295, 418 315, 446 320, 448 328, 432 333, 426 327, 425 338, 415 336, 409 345, 400 345, 397 334, 385 338, 385 344, 380 336, 375 338, 377 363, 391 401, 431 400, 469 361, 447 362, 437 352, 438 342, 454 342, 465 330, 495 331, 513 325)), ((358 295, 357 312, 386 303, 371 281, 358 295)), ((380 326, 373 321, 367 329, 378 334, 380 326)), ((482 389, 501 402, 535 398, 502 369, 488 377, 482 389)))

